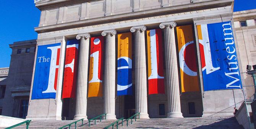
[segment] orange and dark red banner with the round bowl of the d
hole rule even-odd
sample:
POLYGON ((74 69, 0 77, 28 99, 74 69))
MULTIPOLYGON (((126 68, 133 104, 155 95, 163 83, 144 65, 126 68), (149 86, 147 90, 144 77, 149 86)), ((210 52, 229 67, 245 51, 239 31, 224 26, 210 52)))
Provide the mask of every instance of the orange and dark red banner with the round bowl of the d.
POLYGON ((192 25, 176 27, 180 59, 181 91, 199 91, 196 44, 192 25))

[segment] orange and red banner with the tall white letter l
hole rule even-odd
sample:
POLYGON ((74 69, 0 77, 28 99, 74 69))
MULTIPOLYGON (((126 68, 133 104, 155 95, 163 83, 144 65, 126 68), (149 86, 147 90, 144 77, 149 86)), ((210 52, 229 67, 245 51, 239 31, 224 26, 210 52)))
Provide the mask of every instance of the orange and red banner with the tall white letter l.
POLYGON ((162 31, 147 30, 147 62, 149 94, 164 94, 162 31))

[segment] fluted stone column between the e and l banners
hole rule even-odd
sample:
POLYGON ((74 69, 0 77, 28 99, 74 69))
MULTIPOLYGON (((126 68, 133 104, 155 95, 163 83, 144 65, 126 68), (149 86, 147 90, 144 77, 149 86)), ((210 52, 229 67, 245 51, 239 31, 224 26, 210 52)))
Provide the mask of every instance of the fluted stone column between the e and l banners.
POLYGON ((136 113, 140 118, 149 119, 147 113, 147 72, 146 72, 146 44, 144 25, 131 27, 135 37, 135 101, 136 113))

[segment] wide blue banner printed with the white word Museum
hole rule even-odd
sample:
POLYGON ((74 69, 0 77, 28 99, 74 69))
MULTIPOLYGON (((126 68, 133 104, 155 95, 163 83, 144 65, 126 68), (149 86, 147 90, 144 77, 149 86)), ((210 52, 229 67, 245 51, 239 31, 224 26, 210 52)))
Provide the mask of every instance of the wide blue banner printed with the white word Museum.
POLYGON ((198 25, 204 91, 240 89, 231 22, 198 25))

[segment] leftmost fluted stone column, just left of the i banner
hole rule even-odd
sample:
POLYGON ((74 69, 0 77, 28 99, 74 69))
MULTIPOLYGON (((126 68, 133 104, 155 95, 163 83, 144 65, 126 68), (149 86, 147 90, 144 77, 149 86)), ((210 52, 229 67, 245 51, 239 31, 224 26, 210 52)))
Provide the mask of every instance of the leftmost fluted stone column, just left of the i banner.
POLYGON ((88 58, 89 58, 89 33, 79 34, 76 39, 80 39, 79 62, 76 90, 76 114, 74 120, 84 118, 87 120, 87 78, 88 78, 88 58))

